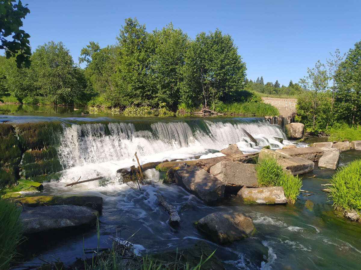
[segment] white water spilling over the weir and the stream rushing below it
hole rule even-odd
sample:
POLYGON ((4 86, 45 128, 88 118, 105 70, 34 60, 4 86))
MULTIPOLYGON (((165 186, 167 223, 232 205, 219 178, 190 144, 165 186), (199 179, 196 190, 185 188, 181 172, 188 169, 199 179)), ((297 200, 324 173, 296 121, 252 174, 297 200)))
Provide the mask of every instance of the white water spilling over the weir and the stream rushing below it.
MULTIPOLYGON (((244 204, 231 197, 215 206, 206 206, 195 196, 176 185, 163 185, 164 174, 155 169, 145 174, 152 185, 133 189, 121 182, 116 170, 135 165, 137 152, 141 163, 173 159, 215 156, 218 150, 237 143, 244 153, 259 151, 265 145, 281 148, 295 143, 287 140, 276 125, 263 118, 127 118, 77 116, 68 114, 0 116, 0 121, 61 121, 64 131, 57 147, 64 171, 60 181, 44 184, 44 195, 91 194, 104 198, 100 216, 99 246, 109 247, 109 237, 120 235, 143 252, 188 247, 197 240, 208 242, 227 269, 360 269, 361 226, 335 216, 332 202, 322 192, 333 171, 315 170, 303 175, 303 190, 295 205, 257 206, 244 204), (247 131, 256 140, 253 143, 247 131), (278 138, 283 138, 279 143, 278 138), (312 177, 316 175, 315 177, 312 177), (65 188, 65 184, 81 179, 104 176, 65 188), (168 214, 158 205, 159 190, 173 204, 181 217, 179 228, 168 224, 168 214), (306 196, 307 194, 312 194, 306 196), (219 246, 193 226, 193 222, 212 212, 244 212, 252 218, 257 232, 250 238, 219 246)), ((299 144, 299 146, 305 146, 299 144)), ((342 154, 340 166, 346 165, 360 152, 342 154)), ((83 249, 98 245, 96 230, 83 234, 52 236, 48 244, 40 244, 32 262, 53 261, 53 257, 72 263, 83 256, 83 249)))

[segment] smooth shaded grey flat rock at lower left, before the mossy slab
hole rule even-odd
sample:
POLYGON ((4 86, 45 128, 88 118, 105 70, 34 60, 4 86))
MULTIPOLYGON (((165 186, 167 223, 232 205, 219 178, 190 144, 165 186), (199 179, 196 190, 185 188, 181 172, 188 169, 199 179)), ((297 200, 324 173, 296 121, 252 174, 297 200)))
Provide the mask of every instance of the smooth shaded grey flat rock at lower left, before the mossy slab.
POLYGON ((91 226, 99 215, 98 211, 90 207, 75 205, 24 207, 24 210, 20 214, 24 234, 91 226))

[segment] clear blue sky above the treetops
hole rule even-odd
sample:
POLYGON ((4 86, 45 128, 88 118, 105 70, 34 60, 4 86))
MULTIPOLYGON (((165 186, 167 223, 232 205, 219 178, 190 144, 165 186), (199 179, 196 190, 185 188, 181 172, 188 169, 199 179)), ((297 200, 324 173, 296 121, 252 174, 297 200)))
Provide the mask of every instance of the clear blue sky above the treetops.
POLYGON ((124 19, 136 17, 151 32, 173 22, 194 38, 219 28, 229 33, 247 63, 247 77, 288 85, 329 52, 347 52, 361 40, 360 0, 93 1, 22 0, 30 14, 23 29, 32 50, 62 41, 78 62, 89 41, 114 44, 124 19))

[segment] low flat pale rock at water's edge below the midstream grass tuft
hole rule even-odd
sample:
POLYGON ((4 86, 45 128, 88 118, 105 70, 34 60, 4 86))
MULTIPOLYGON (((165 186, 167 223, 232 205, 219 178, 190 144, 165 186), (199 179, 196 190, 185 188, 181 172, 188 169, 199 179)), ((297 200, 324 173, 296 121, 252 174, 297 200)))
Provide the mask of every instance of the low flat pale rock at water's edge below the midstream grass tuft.
POLYGON ((268 186, 266 188, 242 188, 237 196, 243 202, 250 204, 275 204, 286 203, 282 186, 268 186))

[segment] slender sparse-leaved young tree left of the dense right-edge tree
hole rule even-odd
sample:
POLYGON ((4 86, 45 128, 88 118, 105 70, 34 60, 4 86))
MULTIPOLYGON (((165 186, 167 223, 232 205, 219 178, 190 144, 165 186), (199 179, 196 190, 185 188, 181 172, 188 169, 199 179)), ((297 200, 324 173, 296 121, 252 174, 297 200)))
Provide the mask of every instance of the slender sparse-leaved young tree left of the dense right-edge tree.
MULTIPOLYGON (((312 130, 314 130, 316 126, 316 118, 320 115, 317 95, 319 92, 323 92, 327 89, 329 77, 327 76, 325 65, 320 63, 319 60, 315 64, 314 68, 307 68, 307 73, 307 76, 300 79, 300 83, 305 89, 309 90, 306 99, 309 100, 309 109, 312 114, 312 130)), ((308 114, 307 109, 306 113, 308 114)))

